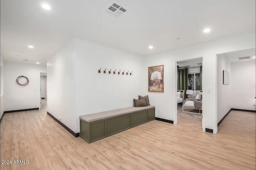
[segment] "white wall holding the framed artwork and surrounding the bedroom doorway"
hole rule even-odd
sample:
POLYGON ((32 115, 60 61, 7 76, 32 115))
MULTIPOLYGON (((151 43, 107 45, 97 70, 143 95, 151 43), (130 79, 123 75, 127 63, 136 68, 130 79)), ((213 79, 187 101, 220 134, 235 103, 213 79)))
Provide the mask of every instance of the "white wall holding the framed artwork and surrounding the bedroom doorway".
MULTIPOLYGON (((146 57, 146 67, 164 64, 164 93, 148 93, 150 104, 156 106, 156 117, 174 120, 176 123, 176 61, 203 57, 202 97, 205 125, 217 133, 216 54, 249 48, 255 48, 255 31, 146 57), (208 90, 211 92, 207 93, 208 90), (159 114, 158 109, 162 113, 159 114)), ((147 68, 144 73, 147 73, 147 68)), ((143 82, 147 82, 147 78, 143 82)))

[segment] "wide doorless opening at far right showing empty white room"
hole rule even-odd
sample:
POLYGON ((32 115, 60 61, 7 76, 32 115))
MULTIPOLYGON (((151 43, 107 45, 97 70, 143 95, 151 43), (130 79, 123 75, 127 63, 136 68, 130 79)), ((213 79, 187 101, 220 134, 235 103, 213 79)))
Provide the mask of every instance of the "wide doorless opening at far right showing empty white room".
MULTIPOLYGON (((217 122, 222 124, 232 110, 256 110, 256 49, 217 54, 217 122)), ((246 118, 246 117, 244 117, 246 118)))

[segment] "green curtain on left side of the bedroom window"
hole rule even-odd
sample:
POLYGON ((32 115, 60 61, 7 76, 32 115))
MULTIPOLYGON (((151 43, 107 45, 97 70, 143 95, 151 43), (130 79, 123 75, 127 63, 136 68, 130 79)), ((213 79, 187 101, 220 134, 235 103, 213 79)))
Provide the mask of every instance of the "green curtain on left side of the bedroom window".
POLYGON ((177 71, 177 90, 188 90, 188 69, 180 69, 177 71))

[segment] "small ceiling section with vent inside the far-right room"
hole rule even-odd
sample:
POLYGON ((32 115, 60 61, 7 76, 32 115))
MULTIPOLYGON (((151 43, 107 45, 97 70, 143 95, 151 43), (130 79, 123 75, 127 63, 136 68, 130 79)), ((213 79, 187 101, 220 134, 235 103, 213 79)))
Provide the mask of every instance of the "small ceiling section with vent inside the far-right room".
POLYGON ((218 54, 218 57, 226 57, 230 62, 243 62, 248 60, 255 62, 256 58, 252 58, 253 56, 256 56, 255 48, 218 54), (251 58, 238 60, 238 57, 246 57, 246 56, 250 56, 251 58))

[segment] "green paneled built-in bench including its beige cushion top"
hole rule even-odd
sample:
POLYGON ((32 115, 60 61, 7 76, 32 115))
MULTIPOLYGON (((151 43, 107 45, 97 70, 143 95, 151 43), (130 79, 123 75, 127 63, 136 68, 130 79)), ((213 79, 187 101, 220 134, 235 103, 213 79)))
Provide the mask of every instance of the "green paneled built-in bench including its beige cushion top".
POLYGON ((80 137, 91 143, 155 120, 155 106, 130 107, 80 116, 80 137))

